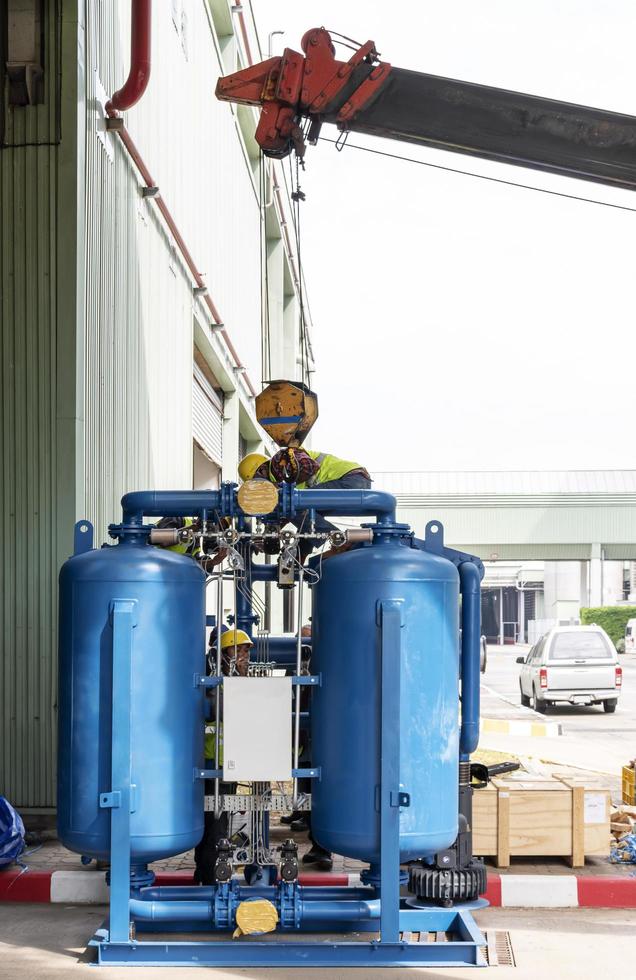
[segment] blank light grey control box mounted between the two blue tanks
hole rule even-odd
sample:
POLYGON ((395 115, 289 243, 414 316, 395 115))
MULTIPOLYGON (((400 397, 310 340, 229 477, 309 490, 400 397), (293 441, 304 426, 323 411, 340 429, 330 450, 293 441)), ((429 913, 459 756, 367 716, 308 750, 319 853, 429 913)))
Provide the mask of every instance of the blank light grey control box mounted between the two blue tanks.
POLYGON ((291 677, 223 678, 223 779, 292 776, 291 677))

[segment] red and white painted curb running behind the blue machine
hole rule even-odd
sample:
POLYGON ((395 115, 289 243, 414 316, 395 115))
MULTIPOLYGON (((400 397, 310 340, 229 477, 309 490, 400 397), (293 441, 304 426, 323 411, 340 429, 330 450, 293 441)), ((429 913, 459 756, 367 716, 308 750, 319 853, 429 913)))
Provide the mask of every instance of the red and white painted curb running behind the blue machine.
MULTIPOLYGON (((302 885, 355 887, 359 874, 301 874, 302 885)), ((191 885, 192 874, 159 872, 157 885, 191 885)), ((636 908, 636 878, 611 875, 488 875, 485 898, 506 908, 636 908)), ((64 902, 103 905, 108 887, 103 871, 0 872, 0 902, 64 902)))

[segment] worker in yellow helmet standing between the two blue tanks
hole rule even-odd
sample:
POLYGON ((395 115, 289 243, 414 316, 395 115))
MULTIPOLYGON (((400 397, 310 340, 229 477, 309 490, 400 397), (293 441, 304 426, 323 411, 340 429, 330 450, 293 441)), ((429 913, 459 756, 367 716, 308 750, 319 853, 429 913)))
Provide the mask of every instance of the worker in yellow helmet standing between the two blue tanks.
MULTIPOLYGON (((210 646, 214 645, 216 631, 210 636, 210 646)), ((224 677, 238 674, 247 677, 250 664, 250 648, 252 641, 243 630, 228 629, 221 636, 221 672, 224 677)), ((210 651, 209 657, 214 656, 210 651)), ((221 697, 223 695, 221 694, 221 697)), ((221 704, 221 709, 223 705, 221 704)), ((219 758, 216 758, 216 719, 205 726, 205 765, 206 769, 223 768, 223 713, 219 728, 219 758)), ((214 793, 214 780, 206 779, 205 795, 214 793)), ((236 783, 221 782, 220 794, 236 793, 236 783)), ((217 817, 214 810, 206 810, 204 814, 203 837, 194 849, 195 872, 194 880, 201 885, 213 885, 216 881, 215 864, 219 841, 230 837, 230 813, 222 811, 217 817)))

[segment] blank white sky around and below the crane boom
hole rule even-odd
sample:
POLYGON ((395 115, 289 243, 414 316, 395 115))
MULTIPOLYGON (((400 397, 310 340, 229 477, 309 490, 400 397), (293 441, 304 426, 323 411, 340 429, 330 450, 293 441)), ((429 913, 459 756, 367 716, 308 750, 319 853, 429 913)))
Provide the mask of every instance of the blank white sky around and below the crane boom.
MULTIPOLYGON (((269 31, 286 31, 279 54, 324 25, 399 68, 636 115, 629 0, 253 6, 264 51, 269 31)), ((636 208, 587 181, 350 142, 636 208)), ((636 214, 327 143, 306 163, 314 446, 371 471, 636 465, 636 214)))

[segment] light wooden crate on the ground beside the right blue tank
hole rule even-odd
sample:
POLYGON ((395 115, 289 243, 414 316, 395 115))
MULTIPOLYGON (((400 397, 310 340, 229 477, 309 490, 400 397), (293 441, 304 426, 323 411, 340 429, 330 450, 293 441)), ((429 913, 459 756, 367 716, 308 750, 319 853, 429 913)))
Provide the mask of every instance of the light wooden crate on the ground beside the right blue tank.
POLYGON ((563 857, 609 851, 610 792, 578 777, 515 774, 473 794, 473 852, 507 868, 511 857, 563 857))

